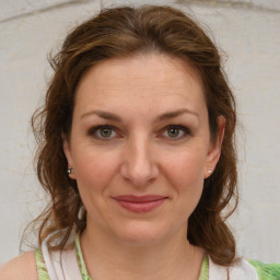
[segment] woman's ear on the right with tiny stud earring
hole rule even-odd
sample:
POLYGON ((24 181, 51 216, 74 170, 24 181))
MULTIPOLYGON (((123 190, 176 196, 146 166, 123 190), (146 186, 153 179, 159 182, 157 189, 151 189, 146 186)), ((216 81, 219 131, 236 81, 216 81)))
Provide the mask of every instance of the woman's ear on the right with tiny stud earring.
POLYGON ((214 142, 211 142, 209 145, 209 151, 207 154, 207 164, 205 170, 205 178, 208 178, 214 171, 215 165, 221 155, 221 148, 224 136, 225 128, 225 118, 224 116, 219 116, 217 119, 218 122, 218 135, 214 142))

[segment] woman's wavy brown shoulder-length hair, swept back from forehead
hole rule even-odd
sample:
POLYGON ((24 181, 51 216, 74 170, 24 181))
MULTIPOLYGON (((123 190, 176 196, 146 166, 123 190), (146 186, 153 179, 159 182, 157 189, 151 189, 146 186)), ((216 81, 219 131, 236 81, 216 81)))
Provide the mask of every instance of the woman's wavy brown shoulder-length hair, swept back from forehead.
POLYGON ((32 118, 38 140, 37 175, 50 196, 48 207, 35 220, 39 223, 39 244, 55 233, 50 240, 61 240, 52 249, 62 249, 70 232, 82 231, 86 225, 86 210, 77 182, 66 173, 68 163, 61 139, 61 133, 69 136, 71 131, 77 84, 96 62, 139 52, 175 56, 198 70, 205 86, 212 140, 218 131, 218 116, 223 115, 226 120, 219 163, 205 180, 201 199, 189 218, 187 237, 217 264, 231 265, 236 260, 235 240, 224 221, 237 203, 235 102, 214 44, 191 19, 171 7, 103 10, 74 28, 52 57, 55 73, 45 105, 32 118), (228 215, 223 215, 225 208, 228 215))

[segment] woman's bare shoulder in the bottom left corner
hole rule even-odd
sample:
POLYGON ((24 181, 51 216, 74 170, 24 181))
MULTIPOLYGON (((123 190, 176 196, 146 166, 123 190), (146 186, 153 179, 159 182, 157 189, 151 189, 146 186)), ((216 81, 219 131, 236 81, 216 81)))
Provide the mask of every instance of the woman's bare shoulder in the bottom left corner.
POLYGON ((37 280, 35 252, 27 252, 0 267, 0 280, 37 280))

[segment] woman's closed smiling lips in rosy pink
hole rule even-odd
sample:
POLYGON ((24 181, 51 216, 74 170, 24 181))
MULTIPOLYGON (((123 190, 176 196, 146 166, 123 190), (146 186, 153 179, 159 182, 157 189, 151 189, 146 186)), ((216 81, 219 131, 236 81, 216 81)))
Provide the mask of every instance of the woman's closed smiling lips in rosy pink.
POLYGON ((131 212, 144 213, 160 207, 167 197, 149 195, 149 196, 117 196, 113 197, 118 205, 131 212))

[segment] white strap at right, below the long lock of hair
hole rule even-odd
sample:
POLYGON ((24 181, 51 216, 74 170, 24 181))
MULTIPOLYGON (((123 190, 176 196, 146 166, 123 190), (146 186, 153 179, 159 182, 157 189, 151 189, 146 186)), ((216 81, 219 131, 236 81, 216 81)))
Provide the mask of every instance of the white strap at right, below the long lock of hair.
POLYGON ((214 264, 209 258, 209 280, 258 280, 257 271, 245 259, 241 259, 232 267, 223 267, 214 264))

